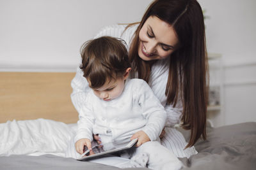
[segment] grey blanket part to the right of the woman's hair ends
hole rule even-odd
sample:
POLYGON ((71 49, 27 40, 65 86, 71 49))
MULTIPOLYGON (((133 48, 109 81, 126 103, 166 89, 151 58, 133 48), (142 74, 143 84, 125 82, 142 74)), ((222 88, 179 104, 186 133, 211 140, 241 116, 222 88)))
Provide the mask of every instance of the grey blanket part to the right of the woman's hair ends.
MULTIPOLYGON (((182 131, 186 138, 188 132, 182 131)), ((181 159, 193 169, 256 169, 256 122, 207 129, 207 140, 195 144, 199 152, 181 159)))

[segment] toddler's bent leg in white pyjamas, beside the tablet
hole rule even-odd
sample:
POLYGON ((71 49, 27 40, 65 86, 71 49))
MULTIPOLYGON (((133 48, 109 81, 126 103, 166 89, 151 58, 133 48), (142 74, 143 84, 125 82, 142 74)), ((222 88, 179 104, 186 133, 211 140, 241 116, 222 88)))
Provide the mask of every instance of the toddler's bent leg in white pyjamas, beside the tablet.
POLYGON ((182 162, 157 141, 148 141, 138 147, 132 156, 132 159, 134 157, 136 158, 136 155, 141 155, 143 153, 148 153, 148 168, 150 169, 178 170, 182 167, 182 162))

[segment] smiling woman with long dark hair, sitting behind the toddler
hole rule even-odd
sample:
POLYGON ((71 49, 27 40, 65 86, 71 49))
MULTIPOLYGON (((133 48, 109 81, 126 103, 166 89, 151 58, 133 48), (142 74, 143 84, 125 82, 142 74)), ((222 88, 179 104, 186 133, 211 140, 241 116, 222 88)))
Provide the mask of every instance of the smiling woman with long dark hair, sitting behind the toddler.
MULTIPOLYGON (((206 138, 207 111, 207 55, 200 4, 196 0, 153 1, 140 24, 106 27, 99 36, 127 42, 132 77, 147 81, 165 107, 168 118, 161 134, 162 145, 177 157, 195 154, 195 142, 201 136, 206 138), (191 130, 188 143, 173 128, 179 122, 191 130)), ((80 69, 72 88, 72 103, 79 112, 88 89, 80 69)))

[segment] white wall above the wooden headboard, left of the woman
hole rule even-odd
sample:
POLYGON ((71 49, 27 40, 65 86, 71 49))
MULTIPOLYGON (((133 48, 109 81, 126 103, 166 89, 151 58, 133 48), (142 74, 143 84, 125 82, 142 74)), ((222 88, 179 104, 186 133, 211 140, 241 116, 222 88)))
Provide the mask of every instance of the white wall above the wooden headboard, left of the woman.
POLYGON ((0 0, 1 71, 75 71, 99 30, 141 20, 151 0, 0 0))

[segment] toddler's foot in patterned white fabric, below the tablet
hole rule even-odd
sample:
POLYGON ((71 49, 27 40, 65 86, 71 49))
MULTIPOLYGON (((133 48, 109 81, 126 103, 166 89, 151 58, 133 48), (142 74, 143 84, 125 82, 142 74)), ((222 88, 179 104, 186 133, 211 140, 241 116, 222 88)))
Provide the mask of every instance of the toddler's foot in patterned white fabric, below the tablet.
POLYGON ((140 153, 138 155, 134 155, 131 158, 131 164, 134 167, 147 167, 148 163, 148 153, 140 153))

